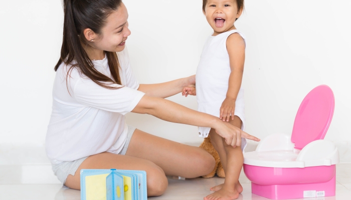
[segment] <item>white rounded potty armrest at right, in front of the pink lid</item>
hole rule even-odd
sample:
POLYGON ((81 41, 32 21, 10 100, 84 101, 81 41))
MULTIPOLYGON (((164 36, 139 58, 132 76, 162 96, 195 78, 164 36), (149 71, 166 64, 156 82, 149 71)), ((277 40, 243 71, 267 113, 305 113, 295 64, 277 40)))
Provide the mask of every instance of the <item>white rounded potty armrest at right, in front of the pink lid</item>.
POLYGON ((333 142, 319 139, 303 147, 296 161, 304 161, 305 167, 330 166, 339 162, 339 151, 333 142))

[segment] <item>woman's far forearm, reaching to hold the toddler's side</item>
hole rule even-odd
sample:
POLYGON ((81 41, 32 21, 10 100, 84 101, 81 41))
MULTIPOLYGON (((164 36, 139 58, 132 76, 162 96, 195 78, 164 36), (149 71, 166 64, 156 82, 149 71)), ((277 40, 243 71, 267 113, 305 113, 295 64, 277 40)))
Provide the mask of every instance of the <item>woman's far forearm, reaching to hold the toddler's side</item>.
POLYGON ((140 84, 138 90, 148 96, 166 98, 182 92, 186 86, 195 86, 195 75, 157 84, 140 84))

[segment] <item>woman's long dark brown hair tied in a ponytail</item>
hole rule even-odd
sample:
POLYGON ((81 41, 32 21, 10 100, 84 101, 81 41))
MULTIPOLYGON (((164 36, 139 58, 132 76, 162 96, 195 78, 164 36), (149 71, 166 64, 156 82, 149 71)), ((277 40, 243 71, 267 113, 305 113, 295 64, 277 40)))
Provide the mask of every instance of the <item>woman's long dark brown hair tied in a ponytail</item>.
POLYGON ((113 77, 111 79, 94 68, 94 64, 85 52, 82 43, 86 43, 84 29, 90 28, 95 33, 101 34, 101 28, 106 24, 108 15, 117 10, 121 2, 121 0, 63 0, 65 15, 63 41, 61 56, 55 66, 55 71, 62 62, 67 65, 72 64, 67 72, 66 82, 72 69, 78 67, 81 75, 86 75, 96 84, 109 89, 120 88, 111 85, 121 84, 116 52, 105 52, 113 77))

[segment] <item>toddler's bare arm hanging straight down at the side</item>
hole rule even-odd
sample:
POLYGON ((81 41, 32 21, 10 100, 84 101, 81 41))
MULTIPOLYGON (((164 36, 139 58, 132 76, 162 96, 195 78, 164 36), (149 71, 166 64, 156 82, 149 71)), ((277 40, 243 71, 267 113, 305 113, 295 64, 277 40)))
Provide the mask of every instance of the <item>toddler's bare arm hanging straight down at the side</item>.
POLYGON ((231 73, 229 76, 227 97, 220 108, 220 118, 229 121, 230 115, 234 119, 235 101, 237 99, 241 81, 243 79, 245 62, 245 41, 239 33, 229 35, 227 39, 231 73))

